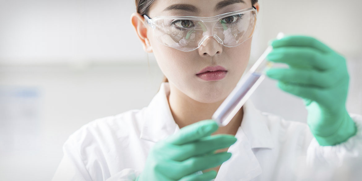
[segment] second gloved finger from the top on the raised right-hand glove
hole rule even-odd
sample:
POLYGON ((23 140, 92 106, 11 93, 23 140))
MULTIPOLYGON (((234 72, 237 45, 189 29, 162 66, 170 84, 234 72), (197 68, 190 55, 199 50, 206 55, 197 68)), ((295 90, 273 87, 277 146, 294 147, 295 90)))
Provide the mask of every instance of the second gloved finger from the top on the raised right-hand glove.
POLYGON ((271 62, 318 70, 328 70, 338 64, 338 62, 333 61, 334 59, 328 59, 319 50, 311 47, 279 47, 273 49, 266 58, 271 62))

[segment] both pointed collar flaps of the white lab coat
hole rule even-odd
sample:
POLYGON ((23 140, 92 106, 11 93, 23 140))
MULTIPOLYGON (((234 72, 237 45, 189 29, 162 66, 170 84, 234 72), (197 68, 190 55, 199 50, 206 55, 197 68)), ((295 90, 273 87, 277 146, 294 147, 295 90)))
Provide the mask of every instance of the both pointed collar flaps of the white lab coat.
MULTIPOLYGON (((158 142, 180 130, 173 119, 168 104, 167 97, 169 94, 169 83, 161 83, 159 92, 144 110, 143 125, 140 133, 141 139, 158 142)), ((236 138, 239 132, 243 132, 251 148, 273 148, 265 116, 250 101, 243 105, 243 109, 243 121, 235 135, 236 138), (240 131, 240 129, 243 131, 240 131)))

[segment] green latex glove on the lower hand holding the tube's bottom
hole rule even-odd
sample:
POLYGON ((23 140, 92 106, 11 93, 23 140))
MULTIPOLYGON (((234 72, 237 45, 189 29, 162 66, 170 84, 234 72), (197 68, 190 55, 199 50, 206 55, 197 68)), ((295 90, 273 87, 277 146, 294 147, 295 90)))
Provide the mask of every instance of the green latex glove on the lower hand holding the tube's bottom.
POLYGON ((218 129, 214 120, 204 120, 180 129, 152 147, 143 172, 136 181, 210 181, 215 171, 196 172, 221 165, 231 153, 214 151, 236 142, 233 135, 212 135, 218 129))

